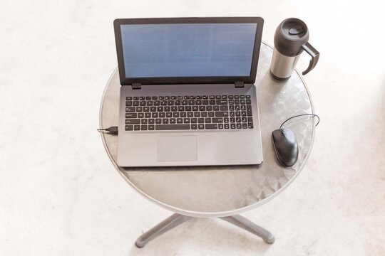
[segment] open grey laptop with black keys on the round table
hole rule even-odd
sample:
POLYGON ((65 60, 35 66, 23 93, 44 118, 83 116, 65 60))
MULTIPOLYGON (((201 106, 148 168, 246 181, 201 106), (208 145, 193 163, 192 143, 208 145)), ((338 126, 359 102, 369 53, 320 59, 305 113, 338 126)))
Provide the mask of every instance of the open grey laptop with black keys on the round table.
POLYGON ((116 19, 118 165, 261 164, 262 28, 259 17, 116 19))

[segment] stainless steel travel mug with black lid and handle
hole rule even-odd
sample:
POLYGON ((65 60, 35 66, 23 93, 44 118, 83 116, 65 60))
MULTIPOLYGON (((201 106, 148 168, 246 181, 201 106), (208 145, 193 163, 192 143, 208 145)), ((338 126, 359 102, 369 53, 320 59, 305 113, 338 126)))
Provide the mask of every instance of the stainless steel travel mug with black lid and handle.
POLYGON ((290 78, 303 50, 312 56, 312 60, 302 75, 306 75, 317 65, 319 52, 308 41, 309 30, 300 19, 287 18, 279 24, 274 34, 274 51, 270 65, 270 74, 273 78, 278 80, 290 78))

